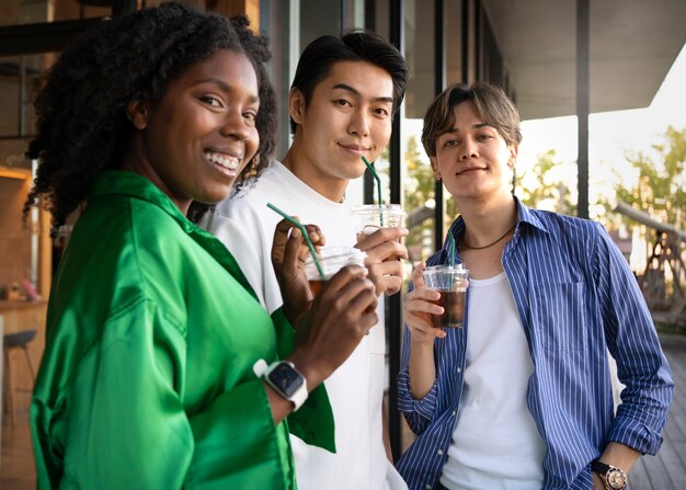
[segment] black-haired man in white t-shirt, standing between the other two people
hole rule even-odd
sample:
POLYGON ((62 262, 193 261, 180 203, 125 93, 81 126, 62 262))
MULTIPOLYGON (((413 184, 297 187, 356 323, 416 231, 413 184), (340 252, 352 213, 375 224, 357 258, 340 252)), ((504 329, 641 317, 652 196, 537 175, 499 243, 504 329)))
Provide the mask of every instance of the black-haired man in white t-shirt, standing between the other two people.
MULTIPOLYGON (((281 216, 266 203, 319 226, 327 246, 364 250, 377 294, 400 290, 401 264, 386 259, 407 258, 399 242, 407 230, 385 228, 357 242, 345 190, 365 172, 362 157, 374 161, 388 144, 407 75, 400 53, 367 31, 323 36, 304 50, 288 99, 291 147, 206 221, 270 312, 283 304, 271 260, 281 216)), ((379 305, 382 319, 384 301, 379 305)), ((381 320, 325 380, 336 453, 291 436, 300 490, 407 488, 390 460, 384 424, 385 354, 381 320)))

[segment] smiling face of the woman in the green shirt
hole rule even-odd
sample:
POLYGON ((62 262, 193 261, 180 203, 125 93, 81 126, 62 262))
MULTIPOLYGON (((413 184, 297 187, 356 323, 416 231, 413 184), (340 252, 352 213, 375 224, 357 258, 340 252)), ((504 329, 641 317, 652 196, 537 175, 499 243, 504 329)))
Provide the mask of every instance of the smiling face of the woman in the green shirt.
POLYGON ((256 153, 258 77, 245 55, 218 52, 173 79, 155 104, 134 102, 137 132, 123 168, 140 173, 186 214, 224 200, 256 153))

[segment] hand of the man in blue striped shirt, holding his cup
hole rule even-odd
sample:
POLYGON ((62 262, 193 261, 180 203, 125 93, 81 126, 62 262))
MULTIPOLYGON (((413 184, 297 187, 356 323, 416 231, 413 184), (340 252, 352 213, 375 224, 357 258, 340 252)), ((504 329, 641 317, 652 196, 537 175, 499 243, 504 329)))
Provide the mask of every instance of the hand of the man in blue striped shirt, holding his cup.
POLYGON ((412 343, 432 344, 436 338, 444 338, 446 332, 433 326, 431 316, 443 314, 443 307, 431 303, 441 298, 441 293, 430 289, 424 283, 422 272, 426 263, 422 262, 412 271, 414 289, 408 293, 404 300, 405 324, 410 329, 412 343))

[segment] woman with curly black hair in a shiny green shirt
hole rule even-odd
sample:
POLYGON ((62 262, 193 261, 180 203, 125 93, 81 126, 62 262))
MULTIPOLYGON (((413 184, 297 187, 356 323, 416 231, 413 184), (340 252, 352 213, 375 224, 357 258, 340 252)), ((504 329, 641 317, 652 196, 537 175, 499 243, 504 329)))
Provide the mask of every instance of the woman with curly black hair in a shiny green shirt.
MULTIPOLYGON (((288 430, 334 449, 321 383, 376 322, 364 269, 330 280, 294 339, 190 219, 268 161, 268 57, 244 18, 168 3, 103 22, 48 73, 25 209, 54 232, 79 218, 31 404, 39 488, 294 488, 288 430)), ((304 290, 299 230, 275 235, 304 290)))

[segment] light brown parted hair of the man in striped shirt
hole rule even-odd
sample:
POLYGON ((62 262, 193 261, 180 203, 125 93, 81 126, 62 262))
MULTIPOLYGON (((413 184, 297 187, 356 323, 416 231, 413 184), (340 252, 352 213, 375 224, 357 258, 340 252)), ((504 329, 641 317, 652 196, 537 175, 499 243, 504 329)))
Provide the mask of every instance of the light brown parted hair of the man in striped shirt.
POLYGON ((507 145, 522 141, 519 113, 500 87, 489 82, 471 87, 457 83, 441 92, 424 115, 422 145, 426 155, 436 156, 436 139, 455 125, 453 109, 467 101, 475 103, 483 122, 494 127, 507 145))

